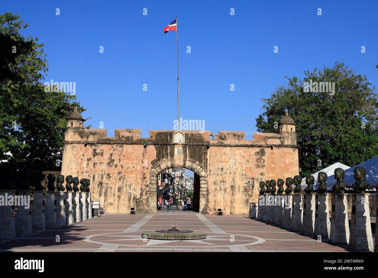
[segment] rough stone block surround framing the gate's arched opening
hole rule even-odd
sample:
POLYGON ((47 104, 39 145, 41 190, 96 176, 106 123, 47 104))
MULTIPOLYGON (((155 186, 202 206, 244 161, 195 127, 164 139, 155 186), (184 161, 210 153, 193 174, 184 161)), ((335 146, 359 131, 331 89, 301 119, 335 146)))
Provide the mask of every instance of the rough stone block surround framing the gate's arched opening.
POLYGON ((190 160, 168 160, 162 162, 155 162, 153 164, 156 166, 153 166, 150 170, 150 193, 153 192, 151 199, 154 202, 152 207, 155 207, 156 205, 156 184, 158 180, 158 175, 166 169, 181 167, 193 171, 200 177, 199 212, 201 214, 208 213, 208 173, 200 165, 190 160), (153 196, 155 196, 155 198, 153 196))

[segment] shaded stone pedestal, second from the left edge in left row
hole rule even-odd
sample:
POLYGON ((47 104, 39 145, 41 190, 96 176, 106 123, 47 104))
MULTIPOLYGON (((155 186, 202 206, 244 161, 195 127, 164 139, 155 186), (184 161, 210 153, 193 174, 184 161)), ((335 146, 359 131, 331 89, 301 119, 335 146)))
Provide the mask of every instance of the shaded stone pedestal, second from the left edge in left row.
POLYGON ((31 191, 17 191, 16 236, 32 236, 31 191))

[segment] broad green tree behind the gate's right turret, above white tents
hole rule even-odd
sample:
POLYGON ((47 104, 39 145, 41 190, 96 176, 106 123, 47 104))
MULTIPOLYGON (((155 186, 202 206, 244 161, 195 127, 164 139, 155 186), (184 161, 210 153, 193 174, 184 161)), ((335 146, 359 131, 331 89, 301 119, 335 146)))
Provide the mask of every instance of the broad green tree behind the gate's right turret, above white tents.
POLYGON ((303 80, 285 76, 288 84, 262 99, 257 130, 277 132, 274 122, 289 112, 297 123, 302 177, 335 162, 354 166, 378 155, 377 95, 366 76, 339 62, 304 73, 303 80), (305 83, 310 81, 312 92, 305 83), (314 82, 335 82, 335 91, 315 92, 314 82))

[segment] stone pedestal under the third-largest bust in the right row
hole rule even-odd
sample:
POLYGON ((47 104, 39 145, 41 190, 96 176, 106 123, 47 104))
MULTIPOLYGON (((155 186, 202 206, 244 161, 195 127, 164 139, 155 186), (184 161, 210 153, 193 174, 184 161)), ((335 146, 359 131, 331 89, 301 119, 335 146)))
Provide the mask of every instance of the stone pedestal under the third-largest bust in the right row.
POLYGON ((329 239, 331 222, 328 213, 328 195, 316 194, 315 200, 314 238, 321 236, 321 239, 329 239))

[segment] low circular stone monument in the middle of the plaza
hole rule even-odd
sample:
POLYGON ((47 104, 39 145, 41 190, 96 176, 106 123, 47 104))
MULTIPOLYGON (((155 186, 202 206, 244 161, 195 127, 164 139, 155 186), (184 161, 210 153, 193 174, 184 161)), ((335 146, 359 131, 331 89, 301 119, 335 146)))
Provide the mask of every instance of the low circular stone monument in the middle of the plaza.
POLYGON ((173 227, 169 230, 145 231, 142 233, 142 238, 160 240, 193 240, 206 238, 206 233, 200 231, 180 230, 173 227))

